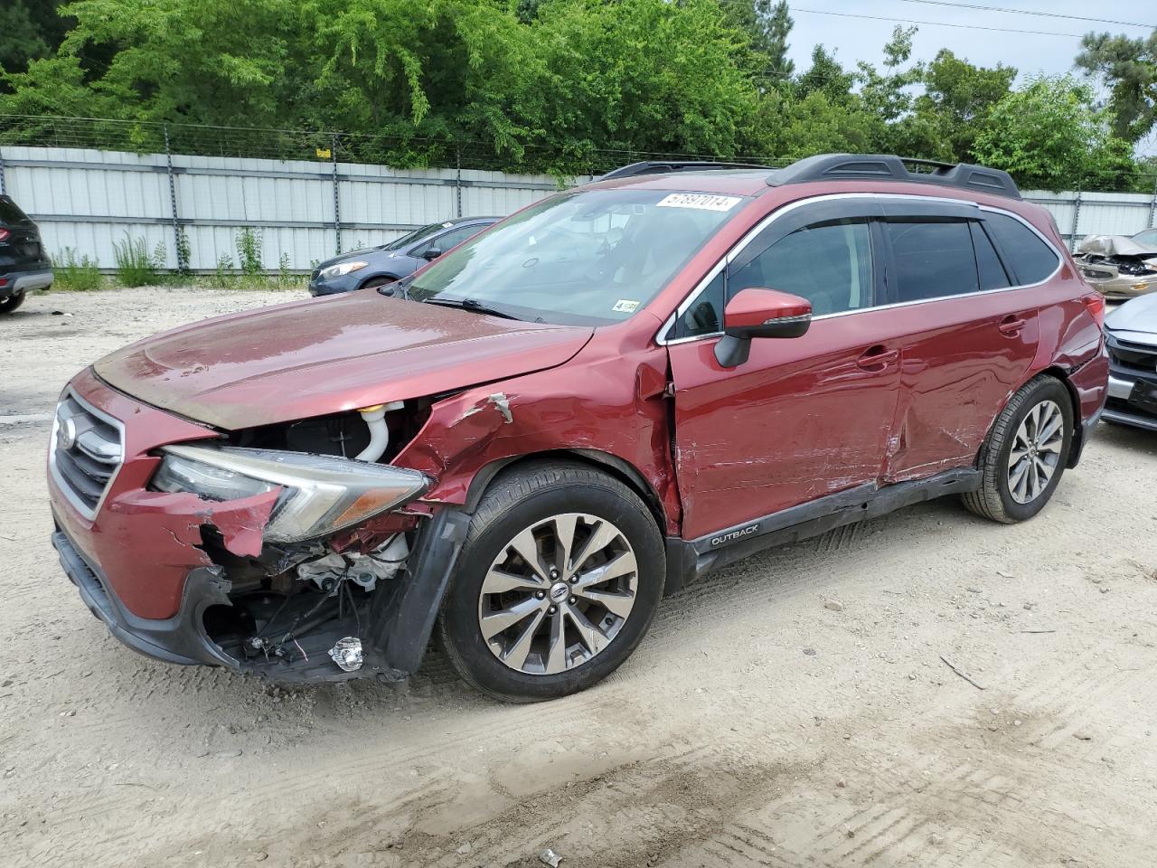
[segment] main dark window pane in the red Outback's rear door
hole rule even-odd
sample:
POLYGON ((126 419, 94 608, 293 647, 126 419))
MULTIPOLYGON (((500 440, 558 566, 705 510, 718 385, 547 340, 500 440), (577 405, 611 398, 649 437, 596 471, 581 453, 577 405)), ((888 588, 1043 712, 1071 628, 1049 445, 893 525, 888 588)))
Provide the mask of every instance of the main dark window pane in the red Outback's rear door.
POLYGON ((890 220, 896 301, 964 295, 980 288, 966 220, 890 220))

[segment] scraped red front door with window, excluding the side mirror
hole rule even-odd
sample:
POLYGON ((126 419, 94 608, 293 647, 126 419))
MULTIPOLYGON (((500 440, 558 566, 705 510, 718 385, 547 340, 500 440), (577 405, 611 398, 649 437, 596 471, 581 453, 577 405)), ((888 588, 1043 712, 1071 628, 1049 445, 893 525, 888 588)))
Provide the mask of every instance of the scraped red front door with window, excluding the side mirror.
POLYGON ((902 333, 890 311, 874 309, 883 262, 871 208, 793 208, 680 308, 668 352, 684 538, 879 480, 902 333), (721 329, 725 300, 746 287, 808 299, 815 318, 803 337, 754 339, 746 362, 723 368, 720 333, 702 332, 721 329))

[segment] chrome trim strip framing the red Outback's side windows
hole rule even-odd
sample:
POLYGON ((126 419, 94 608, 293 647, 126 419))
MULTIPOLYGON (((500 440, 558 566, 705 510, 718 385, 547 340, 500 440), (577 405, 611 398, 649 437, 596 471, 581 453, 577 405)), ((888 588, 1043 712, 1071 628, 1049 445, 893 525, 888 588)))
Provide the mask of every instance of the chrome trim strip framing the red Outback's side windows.
POLYGON ((797 201, 788 203, 782 208, 773 211, 771 214, 768 214, 758 223, 756 223, 756 226, 752 227, 746 235, 744 235, 742 238, 739 238, 739 241, 735 243, 735 245, 723 256, 722 259, 720 259, 717 263, 715 263, 715 265, 712 266, 712 270, 707 272, 707 277, 700 280, 695 285, 695 288, 687 294, 687 297, 679 303, 679 306, 671 312, 671 315, 665 321, 663 321, 663 325, 661 325, 658 331, 655 333, 655 343, 658 346, 675 346, 677 344, 688 344, 692 340, 706 340, 708 338, 717 338, 722 336, 723 334, 722 331, 713 331, 709 334, 691 334, 685 338, 666 337, 670 333, 671 329, 675 328, 676 321, 685 312, 687 312, 687 308, 691 307, 691 304, 695 301, 695 299, 698 299, 700 294, 702 294, 702 292, 718 275, 720 270, 725 267, 727 265, 730 265, 731 262, 739 253, 743 252, 744 248, 746 248, 747 244, 754 241, 756 237, 758 237, 759 234, 764 231, 764 229, 766 229, 768 226, 771 226, 776 220, 782 218, 784 214, 788 214, 795 211, 796 208, 803 207, 804 205, 811 205, 812 203, 819 203, 819 201, 831 201, 834 199, 886 199, 890 201, 900 199, 907 201, 938 201, 949 205, 963 205, 965 207, 972 206, 978 211, 988 211, 994 214, 1004 214, 1005 216, 1010 216, 1014 220, 1018 220, 1030 231, 1032 231, 1033 235, 1036 235, 1038 238, 1045 242, 1048 249, 1053 251, 1053 256, 1056 257, 1056 267, 1053 269, 1052 272, 1049 272, 1048 277, 1038 280, 1033 284, 1018 284, 1016 286, 1002 286, 997 289, 979 289, 974 293, 938 295, 934 299, 914 299, 913 301, 898 301, 891 304, 875 304, 870 308, 855 308, 852 310, 840 310, 835 314, 820 314, 819 316, 815 316, 812 317, 812 322, 818 322, 820 319, 831 319, 833 317, 840 317, 840 316, 848 316, 849 314, 865 314, 870 310, 891 310, 894 308, 912 307, 914 304, 928 304, 929 302, 936 302, 936 301, 951 301, 953 299, 972 299, 977 295, 989 295, 992 293, 1007 293, 1011 292, 1012 289, 1031 289, 1036 286, 1041 286, 1042 284, 1047 284, 1049 280, 1055 278, 1057 272, 1060 272, 1060 270, 1064 266, 1064 257, 1057 251, 1056 245, 1053 244, 1053 242, 1049 241, 1045 236, 1045 234, 1040 231, 1040 229, 1030 223, 1019 214, 1016 214, 1011 211, 1005 211, 1004 208, 997 208, 993 205, 980 205, 979 203, 968 201, 966 199, 950 199, 943 196, 915 196, 913 193, 828 193, 826 196, 815 196, 809 199, 799 199, 797 201))

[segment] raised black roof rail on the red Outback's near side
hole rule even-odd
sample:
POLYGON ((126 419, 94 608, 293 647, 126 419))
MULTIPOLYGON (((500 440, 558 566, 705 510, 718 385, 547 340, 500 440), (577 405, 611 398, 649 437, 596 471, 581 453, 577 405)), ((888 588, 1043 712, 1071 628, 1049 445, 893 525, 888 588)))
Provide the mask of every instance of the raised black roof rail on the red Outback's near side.
POLYGON ((818 154, 776 169, 767 178, 769 186, 809 181, 906 181, 1020 198, 1016 182, 1001 169, 891 154, 818 154), (918 170, 912 171, 908 165, 918 167, 918 170), (924 170, 920 171, 920 168, 924 170))

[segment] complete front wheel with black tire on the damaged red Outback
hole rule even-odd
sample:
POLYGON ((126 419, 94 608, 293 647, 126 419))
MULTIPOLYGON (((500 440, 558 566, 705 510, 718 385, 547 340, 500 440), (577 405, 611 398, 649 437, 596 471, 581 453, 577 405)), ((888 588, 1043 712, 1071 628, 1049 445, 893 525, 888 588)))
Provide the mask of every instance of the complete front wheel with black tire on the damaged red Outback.
POLYGON ((450 664, 509 703, 574 693, 614 671, 663 596, 663 539, 618 479, 580 463, 500 476, 474 513, 439 620, 450 664))

